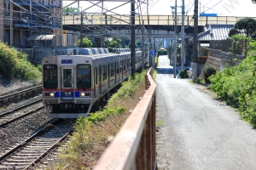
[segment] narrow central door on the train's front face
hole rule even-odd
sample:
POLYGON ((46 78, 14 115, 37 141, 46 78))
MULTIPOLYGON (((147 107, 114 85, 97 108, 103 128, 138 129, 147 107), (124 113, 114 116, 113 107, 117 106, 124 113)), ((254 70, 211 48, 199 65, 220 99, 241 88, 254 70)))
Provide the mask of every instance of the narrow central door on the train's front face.
POLYGON ((61 100, 73 101, 74 99, 74 69, 73 67, 61 68, 61 100))

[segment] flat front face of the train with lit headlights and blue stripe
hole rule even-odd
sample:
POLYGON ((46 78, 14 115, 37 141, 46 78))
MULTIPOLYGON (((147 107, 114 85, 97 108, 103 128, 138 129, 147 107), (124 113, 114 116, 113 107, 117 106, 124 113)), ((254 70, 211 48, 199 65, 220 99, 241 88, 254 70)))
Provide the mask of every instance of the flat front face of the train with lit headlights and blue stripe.
POLYGON ((42 59, 43 103, 47 116, 88 116, 91 100, 91 57, 60 55, 42 59))

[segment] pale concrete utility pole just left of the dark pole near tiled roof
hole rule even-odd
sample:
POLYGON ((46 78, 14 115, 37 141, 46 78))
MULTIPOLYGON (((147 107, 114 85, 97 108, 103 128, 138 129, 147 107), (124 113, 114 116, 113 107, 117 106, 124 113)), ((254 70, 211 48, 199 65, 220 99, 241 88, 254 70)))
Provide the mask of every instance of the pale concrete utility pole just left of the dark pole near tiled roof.
POLYGON ((185 0, 183 0, 183 6, 182 6, 182 14, 183 14, 183 19, 182 19, 182 47, 181 47, 181 70, 184 70, 184 59, 185 59, 185 37, 184 37, 184 31, 185 31, 185 26, 184 26, 184 20, 185 20, 185 0))

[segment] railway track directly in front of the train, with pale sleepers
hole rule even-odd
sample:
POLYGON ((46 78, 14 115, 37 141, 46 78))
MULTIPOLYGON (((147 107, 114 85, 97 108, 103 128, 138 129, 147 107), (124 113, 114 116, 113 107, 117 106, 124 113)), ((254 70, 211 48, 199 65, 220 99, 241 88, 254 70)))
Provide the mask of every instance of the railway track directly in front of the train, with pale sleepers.
MULTIPOLYGON (((73 122, 54 119, 26 141, 15 145, 0 157, 0 169, 34 169, 40 161, 58 148, 73 131, 73 122)), ((44 161, 44 166, 45 165, 44 161)))

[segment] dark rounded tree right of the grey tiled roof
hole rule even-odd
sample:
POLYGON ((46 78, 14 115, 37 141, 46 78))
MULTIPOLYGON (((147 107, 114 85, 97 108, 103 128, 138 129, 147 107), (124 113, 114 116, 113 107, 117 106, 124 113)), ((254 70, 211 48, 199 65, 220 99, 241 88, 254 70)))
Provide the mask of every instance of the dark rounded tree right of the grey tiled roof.
MULTIPOLYGON (((256 20, 250 17, 243 18, 238 20, 234 26, 234 29, 231 29, 229 36, 232 37, 237 34, 245 34, 246 37, 252 37, 256 33, 256 20)), ((247 55, 247 38, 245 38, 245 55, 247 55)))

